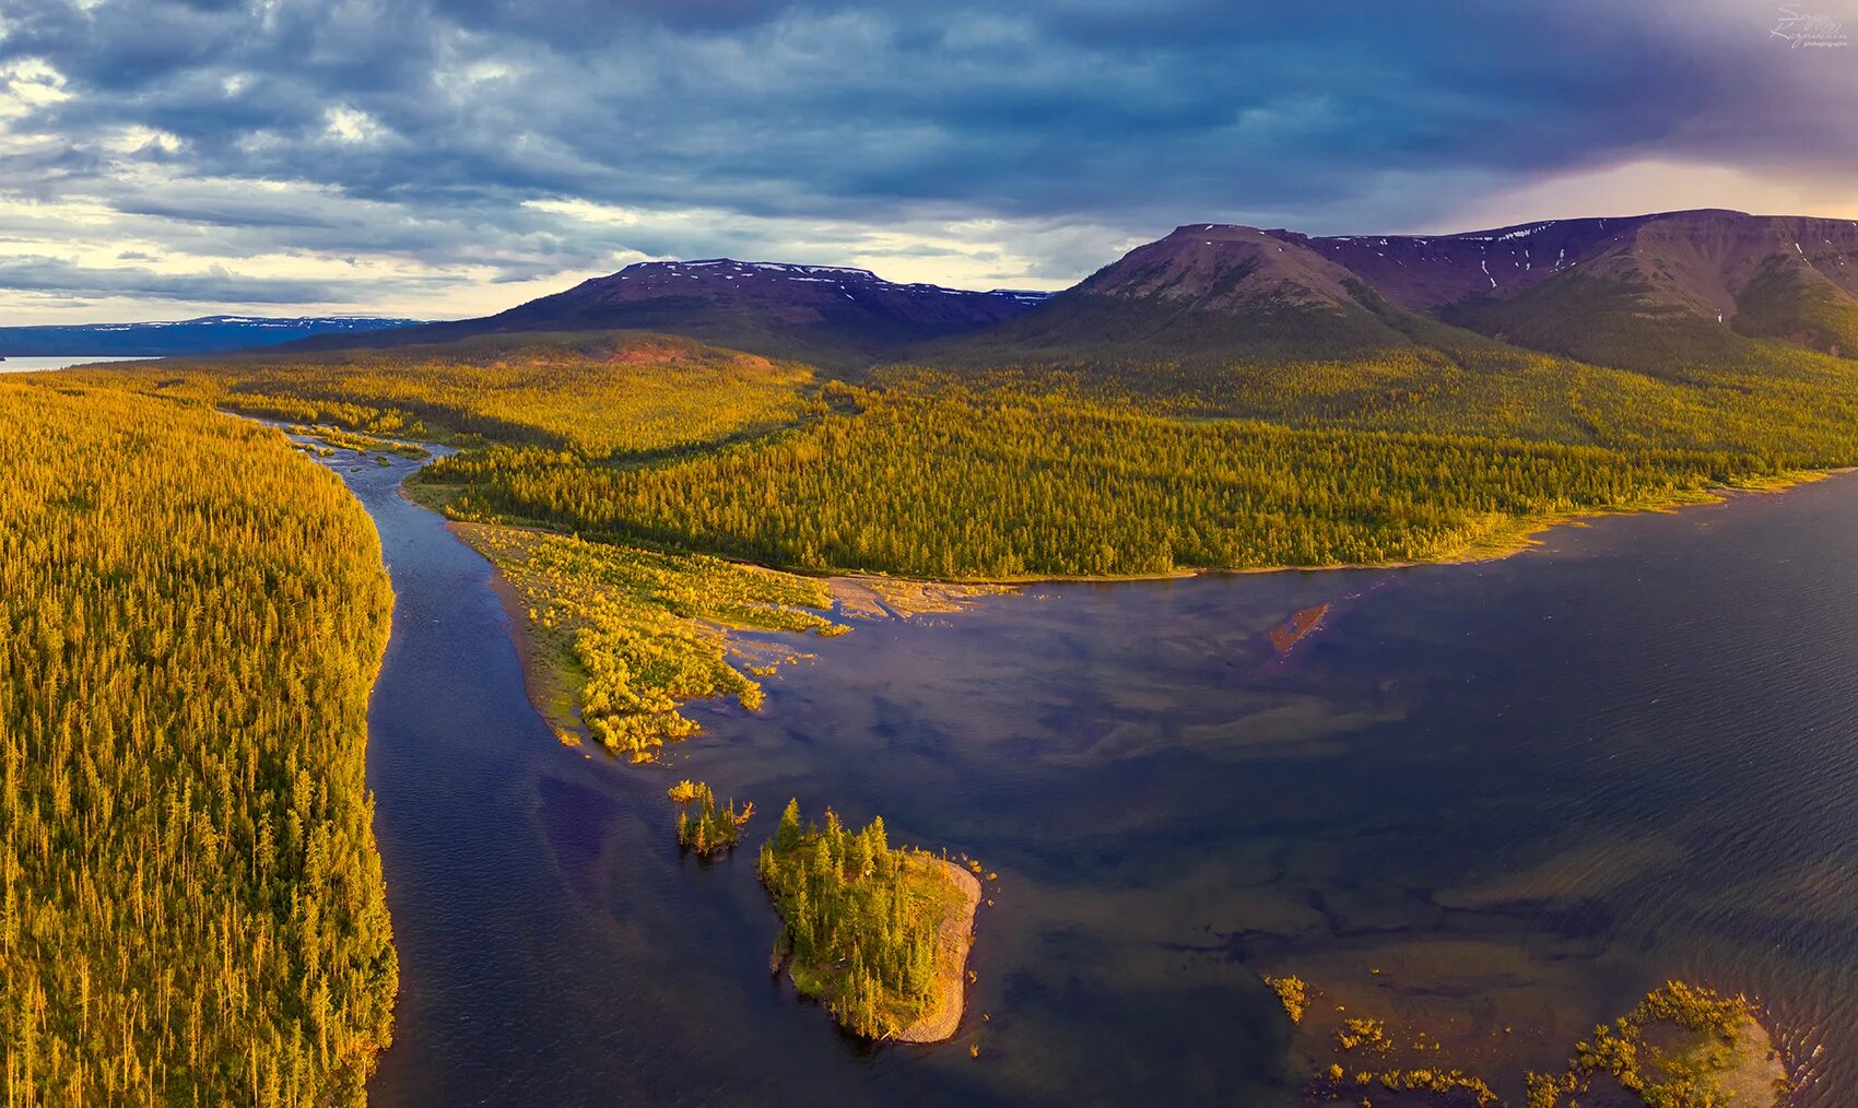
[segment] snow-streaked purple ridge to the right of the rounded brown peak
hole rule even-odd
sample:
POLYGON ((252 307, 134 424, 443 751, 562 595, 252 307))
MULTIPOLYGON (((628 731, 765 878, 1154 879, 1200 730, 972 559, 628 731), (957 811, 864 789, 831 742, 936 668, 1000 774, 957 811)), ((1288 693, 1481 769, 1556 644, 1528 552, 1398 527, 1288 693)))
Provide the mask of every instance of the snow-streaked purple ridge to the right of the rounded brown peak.
POLYGON ((1771 364, 1745 338, 1858 357, 1858 223, 1728 210, 1444 236, 1275 236, 1392 303, 1535 350, 1650 372, 1771 364))

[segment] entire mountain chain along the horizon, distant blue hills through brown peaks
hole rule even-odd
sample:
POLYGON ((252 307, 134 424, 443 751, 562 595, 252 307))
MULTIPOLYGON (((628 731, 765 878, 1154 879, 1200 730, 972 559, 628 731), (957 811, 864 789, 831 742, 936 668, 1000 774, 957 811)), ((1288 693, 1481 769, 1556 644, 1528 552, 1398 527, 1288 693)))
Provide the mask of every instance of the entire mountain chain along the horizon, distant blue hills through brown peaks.
POLYGON ((1789 348, 1858 357, 1858 221, 1693 210, 1434 236, 1189 223, 1059 294, 706 258, 626 266, 476 320, 13 327, 0 329, 0 351, 206 353, 292 338, 292 350, 344 350, 611 329, 838 374, 910 361, 1230 376, 1403 353, 1524 364, 1529 351, 1681 376, 1748 368, 1789 348))

